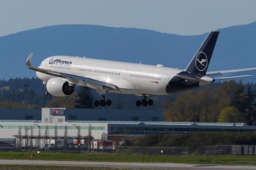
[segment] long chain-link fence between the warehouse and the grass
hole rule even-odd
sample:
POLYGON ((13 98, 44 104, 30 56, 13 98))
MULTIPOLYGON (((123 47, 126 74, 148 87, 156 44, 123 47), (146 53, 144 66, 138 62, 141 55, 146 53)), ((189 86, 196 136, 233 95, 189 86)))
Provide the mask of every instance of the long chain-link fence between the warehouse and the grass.
POLYGON ((137 146, 79 146, 79 145, 43 145, 22 146, 0 144, 0 150, 6 151, 39 151, 56 153, 81 154, 120 154, 120 155, 152 155, 152 156, 216 156, 216 155, 256 155, 256 146, 217 145, 200 147, 137 147, 137 146))

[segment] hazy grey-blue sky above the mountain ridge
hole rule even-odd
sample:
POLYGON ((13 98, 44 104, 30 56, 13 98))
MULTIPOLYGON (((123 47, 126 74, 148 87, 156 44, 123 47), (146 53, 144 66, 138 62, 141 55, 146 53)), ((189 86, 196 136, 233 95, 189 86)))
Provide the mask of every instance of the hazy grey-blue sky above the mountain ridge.
POLYGON ((59 24, 198 35, 256 21, 256 0, 0 0, 0 36, 59 24))

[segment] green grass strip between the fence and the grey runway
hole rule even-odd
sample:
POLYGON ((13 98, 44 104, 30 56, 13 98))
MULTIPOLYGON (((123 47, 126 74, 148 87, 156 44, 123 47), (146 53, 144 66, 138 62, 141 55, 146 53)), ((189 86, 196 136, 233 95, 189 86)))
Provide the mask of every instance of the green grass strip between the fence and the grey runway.
POLYGON ((256 156, 242 156, 242 155, 141 156, 141 155, 118 155, 118 154, 65 154, 65 153, 48 153, 48 152, 40 152, 40 153, 0 152, 0 159, 256 165, 256 156), (30 153, 34 153, 35 157, 30 158, 30 153))

